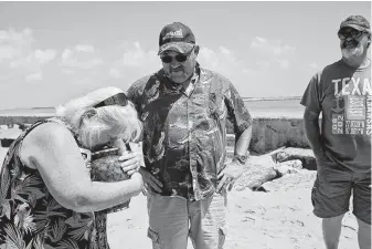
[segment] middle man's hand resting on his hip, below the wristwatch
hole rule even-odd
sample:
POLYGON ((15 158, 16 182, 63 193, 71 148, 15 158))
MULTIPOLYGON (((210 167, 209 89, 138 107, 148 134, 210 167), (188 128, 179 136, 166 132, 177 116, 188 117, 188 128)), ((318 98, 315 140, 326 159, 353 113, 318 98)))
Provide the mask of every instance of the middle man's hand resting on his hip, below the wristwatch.
POLYGON ((225 188, 230 191, 233 188, 235 180, 243 174, 243 172, 244 165, 242 165, 240 162, 233 160, 227 164, 217 176, 220 184, 216 188, 216 191, 220 193, 222 188, 225 188))

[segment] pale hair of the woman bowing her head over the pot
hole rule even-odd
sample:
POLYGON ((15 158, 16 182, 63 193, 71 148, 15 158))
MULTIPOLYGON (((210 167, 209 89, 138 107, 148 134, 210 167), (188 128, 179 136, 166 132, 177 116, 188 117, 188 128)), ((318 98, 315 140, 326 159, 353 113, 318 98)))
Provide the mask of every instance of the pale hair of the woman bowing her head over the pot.
POLYGON ((99 135, 104 129, 115 127, 118 131, 115 138, 124 142, 135 142, 141 134, 141 124, 134 105, 108 105, 95 108, 94 105, 103 100, 123 92, 117 87, 105 87, 74 98, 56 107, 56 117, 63 121, 85 147, 94 147, 99 143, 99 135), (88 131, 83 125, 88 121, 88 131))

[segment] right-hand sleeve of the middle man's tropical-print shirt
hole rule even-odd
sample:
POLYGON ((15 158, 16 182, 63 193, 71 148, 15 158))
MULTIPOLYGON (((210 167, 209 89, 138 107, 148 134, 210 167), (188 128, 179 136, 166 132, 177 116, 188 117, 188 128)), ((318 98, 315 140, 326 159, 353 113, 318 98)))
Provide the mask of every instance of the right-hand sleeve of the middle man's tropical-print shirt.
POLYGON ((252 115, 246 108, 235 86, 227 80, 227 90, 224 94, 227 107, 227 118, 234 125, 235 134, 244 132, 252 125, 252 115))

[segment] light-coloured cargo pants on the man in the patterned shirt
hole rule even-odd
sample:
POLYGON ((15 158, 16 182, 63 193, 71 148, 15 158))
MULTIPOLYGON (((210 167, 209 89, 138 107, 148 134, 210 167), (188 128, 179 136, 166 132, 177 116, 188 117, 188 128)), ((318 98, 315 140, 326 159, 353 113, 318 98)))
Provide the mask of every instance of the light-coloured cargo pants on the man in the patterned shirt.
POLYGON ((153 249, 222 249, 225 241, 226 194, 198 201, 148 191, 148 237, 153 249))

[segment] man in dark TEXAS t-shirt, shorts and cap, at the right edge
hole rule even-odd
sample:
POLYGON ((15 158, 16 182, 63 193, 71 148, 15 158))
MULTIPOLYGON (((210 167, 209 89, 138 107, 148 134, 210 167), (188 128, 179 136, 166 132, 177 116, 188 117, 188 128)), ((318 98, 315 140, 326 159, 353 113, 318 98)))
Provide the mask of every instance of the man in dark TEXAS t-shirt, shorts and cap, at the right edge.
POLYGON ((342 59, 312 76, 301 100, 318 170, 311 200, 313 214, 322 218, 326 246, 336 249, 352 194, 359 247, 371 249, 370 23, 351 15, 341 23, 338 37, 342 59))

